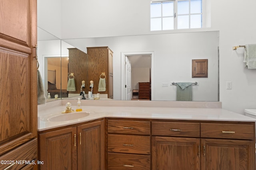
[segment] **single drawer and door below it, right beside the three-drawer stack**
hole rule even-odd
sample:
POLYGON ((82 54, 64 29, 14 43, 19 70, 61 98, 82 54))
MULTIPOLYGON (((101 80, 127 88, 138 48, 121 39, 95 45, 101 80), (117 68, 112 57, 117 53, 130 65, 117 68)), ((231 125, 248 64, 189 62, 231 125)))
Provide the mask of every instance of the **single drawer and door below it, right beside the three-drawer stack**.
POLYGON ((200 170, 200 123, 152 121, 152 170, 200 170))

